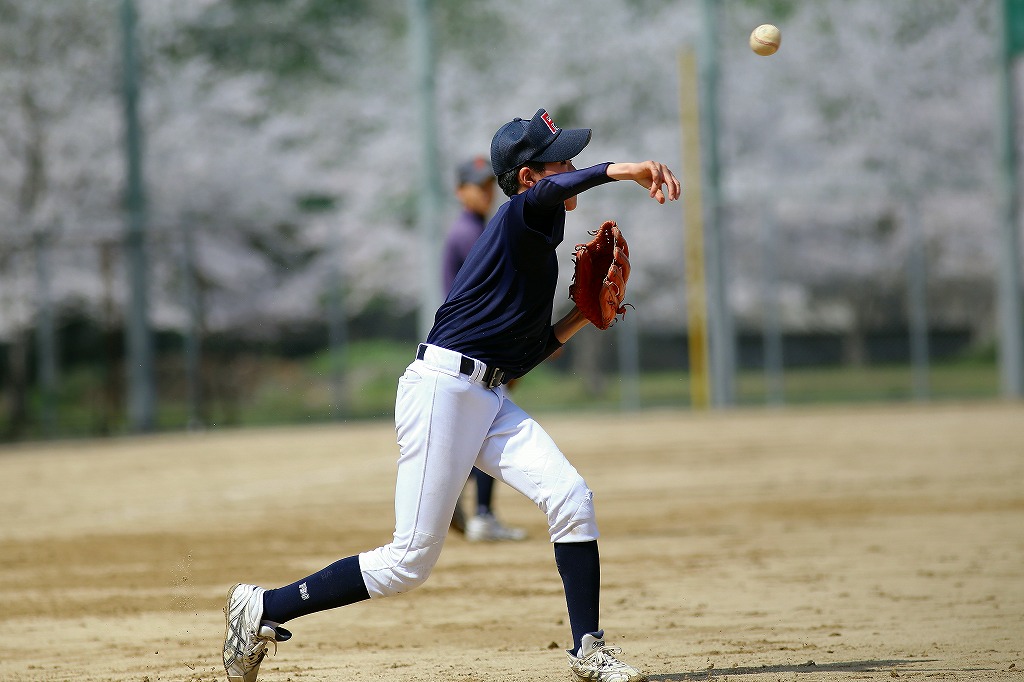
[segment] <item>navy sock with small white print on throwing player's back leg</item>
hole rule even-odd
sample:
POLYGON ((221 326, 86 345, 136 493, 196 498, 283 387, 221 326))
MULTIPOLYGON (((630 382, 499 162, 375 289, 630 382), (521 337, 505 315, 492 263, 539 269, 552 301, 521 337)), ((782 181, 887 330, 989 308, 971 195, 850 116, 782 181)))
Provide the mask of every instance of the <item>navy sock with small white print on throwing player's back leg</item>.
POLYGON ((263 594, 263 620, 284 624, 300 615, 369 598, 370 593, 359 572, 359 557, 350 556, 301 581, 267 590, 263 594))

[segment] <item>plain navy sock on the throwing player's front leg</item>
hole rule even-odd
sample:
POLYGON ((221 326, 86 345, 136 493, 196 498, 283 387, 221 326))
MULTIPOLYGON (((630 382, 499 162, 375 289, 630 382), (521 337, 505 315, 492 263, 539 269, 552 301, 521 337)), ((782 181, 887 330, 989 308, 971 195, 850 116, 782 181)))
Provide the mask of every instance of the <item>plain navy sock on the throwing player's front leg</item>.
POLYGON ((584 635, 600 630, 601 557, 597 541, 555 543, 555 565, 565 589, 565 605, 572 629, 572 652, 575 653, 584 635))

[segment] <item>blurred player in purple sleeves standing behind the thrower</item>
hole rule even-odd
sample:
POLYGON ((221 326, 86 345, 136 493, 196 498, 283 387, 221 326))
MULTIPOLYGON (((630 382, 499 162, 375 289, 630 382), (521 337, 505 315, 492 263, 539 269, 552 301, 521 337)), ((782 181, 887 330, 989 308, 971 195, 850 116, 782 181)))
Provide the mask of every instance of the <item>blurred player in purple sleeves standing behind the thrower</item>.
MULTIPOLYGON (((459 164, 455 195, 462 210, 444 237, 441 250, 441 284, 445 295, 452 291, 455 275, 462 269, 473 245, 486 227, 486 218, 495 200, 495 174, 490 170, 490 162, 483 157, 474 157, 459 164)), ((511 387, 511 383, 506 384, 506 388, 511 387)), ((472 543, 525 540, 525 530, 507 526, 498 520, 495 513, 495 479, 477 467, 473 467, 470 478, 476 487, 476 506, 467 520, 460 497, 452 515, 452 528, 465 534, 466 540, 472 543)))

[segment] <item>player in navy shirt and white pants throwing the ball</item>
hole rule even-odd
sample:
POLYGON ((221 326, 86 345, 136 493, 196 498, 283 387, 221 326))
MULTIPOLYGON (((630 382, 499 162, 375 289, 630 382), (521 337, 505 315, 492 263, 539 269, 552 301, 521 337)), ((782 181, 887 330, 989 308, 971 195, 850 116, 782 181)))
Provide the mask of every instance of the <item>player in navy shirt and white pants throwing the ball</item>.
POLYGON ((598 622, 600 558, 593 495, 540 424, 510 398, 509 380, 529 372, 589 323, 573 307, 552 325, 565 212, 577 196, 634 180, 664 204, 679 181, 664 164, 604 163, 577 170, 588 129, 560 129, 544 110, 502 126, 490 145, 498 184, 510 198, 459 270, 434 326, 398 381, 400 456, 391 542, 340 559, 292 585, 239 584, 224 608, 224 668, 254 682, 281 627, 299 616, 408 592, 430 574, 466 477, 479 467, 546 514, 572 633, 566 651, 581 682, 646 679, 620 660, 598 622))

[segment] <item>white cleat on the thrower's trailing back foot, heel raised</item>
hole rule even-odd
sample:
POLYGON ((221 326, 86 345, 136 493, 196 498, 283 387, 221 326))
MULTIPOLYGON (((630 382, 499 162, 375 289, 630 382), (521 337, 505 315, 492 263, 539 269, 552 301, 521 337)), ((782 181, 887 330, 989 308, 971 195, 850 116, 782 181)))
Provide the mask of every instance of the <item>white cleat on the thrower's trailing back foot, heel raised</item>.
POLYGON ((256 682, 266 645, 292 636, 276 623, 263 620, 263 588, 238 584, 227 591, 224 606, 224 670, 228 682, 256 682))

